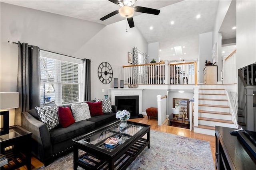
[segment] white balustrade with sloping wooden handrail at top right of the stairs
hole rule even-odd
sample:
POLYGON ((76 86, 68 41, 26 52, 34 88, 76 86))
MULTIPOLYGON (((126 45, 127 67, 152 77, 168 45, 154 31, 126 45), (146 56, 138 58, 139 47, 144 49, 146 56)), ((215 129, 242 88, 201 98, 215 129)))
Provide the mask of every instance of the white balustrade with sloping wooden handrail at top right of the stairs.
POLYGON ((223 84, 236 84, 236 50, 223 60, 223 84))

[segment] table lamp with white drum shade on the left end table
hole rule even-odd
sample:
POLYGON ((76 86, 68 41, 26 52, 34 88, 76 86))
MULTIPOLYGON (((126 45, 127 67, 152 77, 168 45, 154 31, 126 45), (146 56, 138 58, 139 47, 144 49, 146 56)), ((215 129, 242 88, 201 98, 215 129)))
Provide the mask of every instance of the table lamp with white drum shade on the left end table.
POLYGON ((18 92, 0 92, 0 115, 1 131, 0 135, 9 133, 9 110, 19 107, 18 92))

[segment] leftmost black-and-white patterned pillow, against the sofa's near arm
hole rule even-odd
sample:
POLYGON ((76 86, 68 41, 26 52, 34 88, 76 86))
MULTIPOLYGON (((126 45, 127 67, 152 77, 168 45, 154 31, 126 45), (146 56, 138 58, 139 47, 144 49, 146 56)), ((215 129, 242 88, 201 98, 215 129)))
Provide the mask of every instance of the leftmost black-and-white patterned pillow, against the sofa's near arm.
POLYGON ((45 123, 49 129, 59 125, 58 107, 56 105, 49 107, 35 107, 39 120, 45 123))

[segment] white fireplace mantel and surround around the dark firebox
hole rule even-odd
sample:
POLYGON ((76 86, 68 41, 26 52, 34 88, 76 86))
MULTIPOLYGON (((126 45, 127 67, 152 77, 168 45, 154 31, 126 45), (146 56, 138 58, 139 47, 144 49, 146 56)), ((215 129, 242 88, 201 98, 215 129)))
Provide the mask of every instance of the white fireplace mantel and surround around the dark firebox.
POLYGON ((115 96, 139 96, 139 114, 142 114, 142 90, 144 88, 110 88, 111 104, 115 105, 115 96))

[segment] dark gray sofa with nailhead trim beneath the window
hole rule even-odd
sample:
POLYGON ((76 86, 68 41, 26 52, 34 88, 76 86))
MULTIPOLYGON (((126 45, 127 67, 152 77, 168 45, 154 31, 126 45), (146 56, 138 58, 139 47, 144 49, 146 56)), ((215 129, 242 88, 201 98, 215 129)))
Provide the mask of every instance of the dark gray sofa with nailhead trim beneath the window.
MULTIPOLYGON (((71 109, 71 105, 62 107, 71 109)), ((32 132, 32 154, 47 166, 60 154, 72 149, 72 139, 92 131, 96 127, 116 121, 117 111, 117 107, 112 106, 113 113, 104 113, 104 115, 78 121, 66 128, 58 125, 49 131, 46 124, 39 121, 36 109, 31 109, 22 112, 21 124, 22 127, 32 132)))

